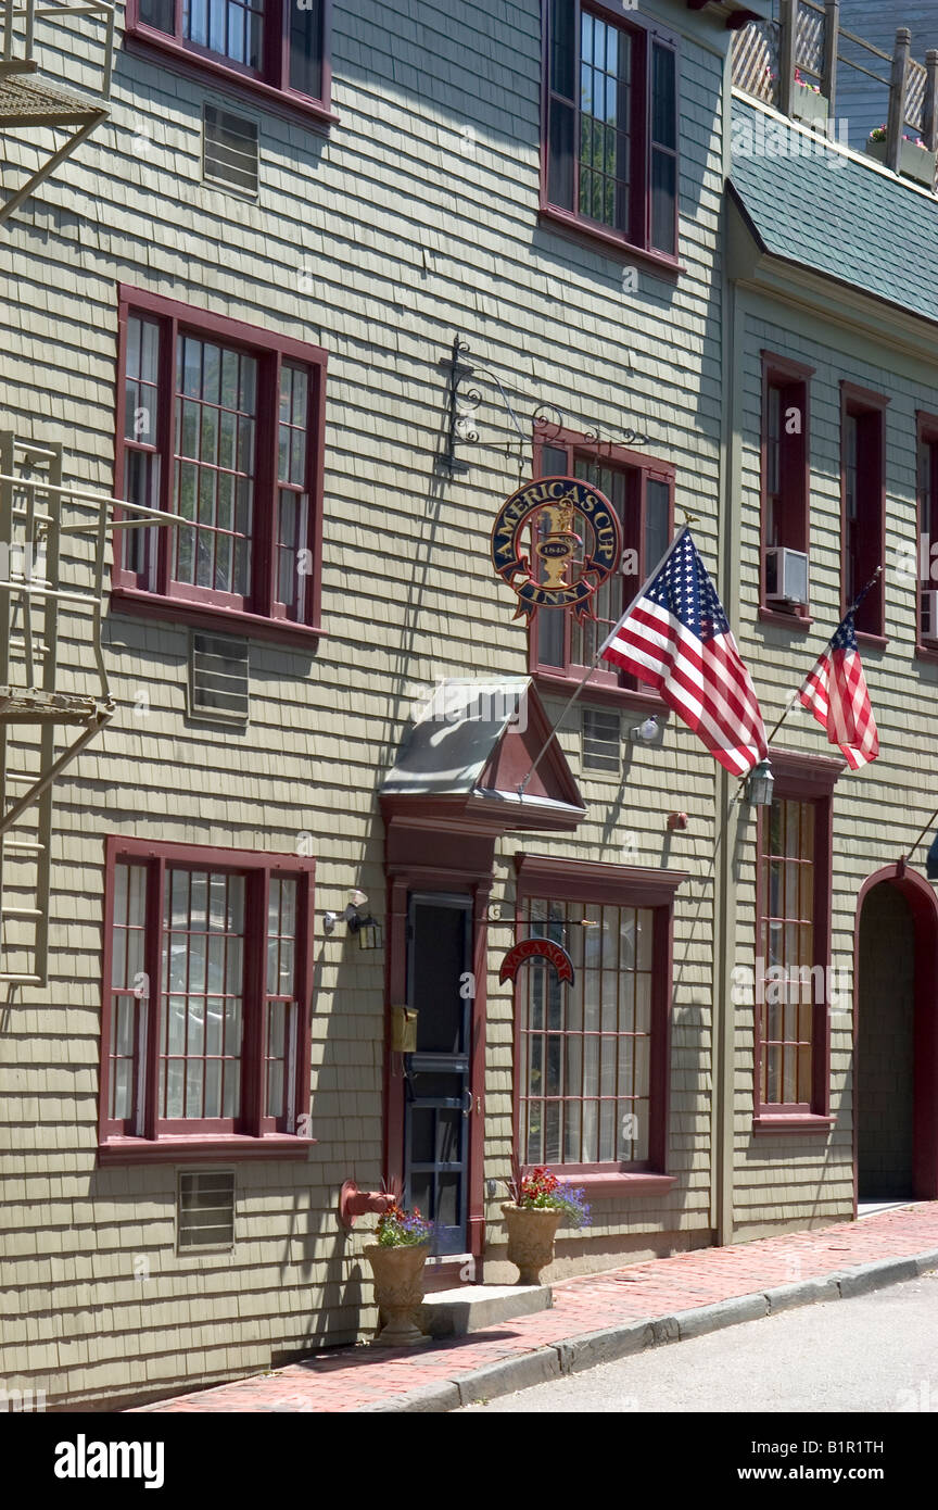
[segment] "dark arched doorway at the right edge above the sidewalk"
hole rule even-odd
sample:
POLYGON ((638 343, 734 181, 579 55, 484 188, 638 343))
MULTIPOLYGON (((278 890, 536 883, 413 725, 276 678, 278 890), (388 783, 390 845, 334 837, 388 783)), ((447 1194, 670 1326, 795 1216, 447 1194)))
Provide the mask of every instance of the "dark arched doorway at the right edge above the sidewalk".
POLYGON ((938 900, 902 862, 861 888, 854 980, 857 1199, 938 1199, 938 900))

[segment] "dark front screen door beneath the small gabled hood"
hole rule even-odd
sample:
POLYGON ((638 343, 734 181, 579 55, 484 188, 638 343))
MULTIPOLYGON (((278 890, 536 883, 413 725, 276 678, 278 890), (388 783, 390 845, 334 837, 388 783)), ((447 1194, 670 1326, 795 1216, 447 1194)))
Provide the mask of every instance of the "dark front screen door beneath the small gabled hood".
POLYGON ((436 1222, 439 1253, 466 1253, 471 898, 415 892, 407 935, 407 1004, 418 1021, 416 1052, 404 1057, 404 1200, 436 1222))

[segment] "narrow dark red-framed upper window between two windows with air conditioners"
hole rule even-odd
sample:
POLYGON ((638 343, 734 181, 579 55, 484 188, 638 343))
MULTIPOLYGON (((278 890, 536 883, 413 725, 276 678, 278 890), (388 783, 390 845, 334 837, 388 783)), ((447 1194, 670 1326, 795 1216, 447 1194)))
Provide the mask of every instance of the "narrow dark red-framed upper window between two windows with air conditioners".
MULTIPOLYGON (((841 384, 841 601, 846 613, 876 568, 884 565, 888 400, 851 384, 841 384)), ((863 634, 885 633, 882 575, 860 604, 854 622, 863 634)))

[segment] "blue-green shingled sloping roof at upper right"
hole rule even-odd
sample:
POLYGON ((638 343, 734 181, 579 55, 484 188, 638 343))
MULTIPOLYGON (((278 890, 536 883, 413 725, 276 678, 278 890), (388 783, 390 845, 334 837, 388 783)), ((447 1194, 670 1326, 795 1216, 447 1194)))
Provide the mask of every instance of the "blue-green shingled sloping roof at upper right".
POLYGON ((840 153, 781 153, 780 131, 804 149, 733 101, 730 183, 765 249, 938 322, 938 199, 840 153))

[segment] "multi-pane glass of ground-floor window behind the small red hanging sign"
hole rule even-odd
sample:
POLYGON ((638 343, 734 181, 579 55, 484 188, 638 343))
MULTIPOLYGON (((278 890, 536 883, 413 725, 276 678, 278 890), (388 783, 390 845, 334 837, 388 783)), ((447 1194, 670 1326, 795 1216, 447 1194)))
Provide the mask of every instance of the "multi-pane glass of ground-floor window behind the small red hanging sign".
POLYGON ((529 1164, 633 1164, 650 1157, 654 909, 526 903, 526 935, 561 944, 519 985, 520 1155, 529 1164))

